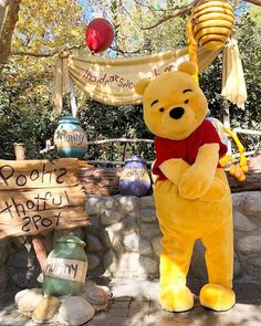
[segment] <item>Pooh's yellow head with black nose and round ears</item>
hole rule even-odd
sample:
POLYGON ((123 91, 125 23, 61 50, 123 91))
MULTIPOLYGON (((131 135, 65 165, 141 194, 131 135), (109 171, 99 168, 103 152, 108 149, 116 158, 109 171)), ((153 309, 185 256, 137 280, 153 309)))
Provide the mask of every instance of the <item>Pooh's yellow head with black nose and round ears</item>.
POLYGON ((136 92, 143 95, 145 124, 155 135, 181 140, 203 122, 208 103, 192 77, 196 70, 192 62, 184 62, 178 71, 136 84, 136 92))

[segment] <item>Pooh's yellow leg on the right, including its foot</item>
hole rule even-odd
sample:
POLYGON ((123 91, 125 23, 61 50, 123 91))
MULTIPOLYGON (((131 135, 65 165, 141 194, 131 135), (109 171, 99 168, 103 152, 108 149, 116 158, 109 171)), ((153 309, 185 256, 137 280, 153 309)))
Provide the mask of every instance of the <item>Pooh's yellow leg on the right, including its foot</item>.
POLYGON ((199 294, 200 304, 213 311, 228 311, 236 303, 232 291, 233 235, 232 223, 223 224, 216 232, 202 238, 209 284, 199 294))

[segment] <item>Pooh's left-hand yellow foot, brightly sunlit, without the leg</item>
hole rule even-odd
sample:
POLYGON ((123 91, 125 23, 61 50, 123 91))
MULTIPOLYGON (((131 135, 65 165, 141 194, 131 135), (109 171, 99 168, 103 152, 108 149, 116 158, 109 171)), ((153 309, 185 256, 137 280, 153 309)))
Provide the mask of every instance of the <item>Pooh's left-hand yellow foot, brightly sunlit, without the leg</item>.
POLYGON ((159 292, 159 303, 168 312, 186 312, 194 307, 194 295, 187 286, 164 286, 159 292))

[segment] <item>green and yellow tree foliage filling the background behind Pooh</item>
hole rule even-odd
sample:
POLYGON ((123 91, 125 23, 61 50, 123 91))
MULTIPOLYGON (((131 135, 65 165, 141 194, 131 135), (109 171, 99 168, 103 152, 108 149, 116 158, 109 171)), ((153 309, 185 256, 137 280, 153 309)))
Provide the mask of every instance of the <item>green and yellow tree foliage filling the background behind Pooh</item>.
MULTIPOLYGON (((175 18, 152 30, 142 30, 156 23, 163 13, 188 1, 87 1, 96 11, 102 11, 116 28, 116 45, 135 55, 175 50, 186 45, 186 18, 175 18), (164 11, 165 10, 165 11, 164 11)), ((261 129, 261 23, 260 9, 249 7, 248 13, 238 17, 237 38, 243 62, 248 87, 246 111, 230 106, 232 127, 261 129)), ((77 1, 23 0, 19 23, 15 29, 12 51, 50 52, 62 48, 84 44, 86 23, 77 1)), ((83 50, 84 52, 84 50, 83 50)), ((85 50, 86 52, 86 50, 85 50)), ((107 55, 104 53, 102 55, 107 55)), ((129 54, 127 54, 129 55, 129 54)), ((45 140, 53 137, 56 120, 61 116, 52 104, 52 72, 56 57, 12 56, 0 80, 0 157, 12 158, 12 143, 23 141, 29 158, 40 157, 45 140)), ((209 101, 211 115, 222 119, 221 55, 200 76, 200 85, 209 101)), ((77 92, 81 106, 80 120, 92 139, 103 138, 153 138, 147 130, 140 106, 106 106, 86 101, 77 92)), ((69 112, 67 101, 64 101, 69 112)), ((257 139, 249 141, 249 148, 257 148, 257 139)), ((121 159, 122 148, 117 159, 121 159)), ((128 146, 127 155, 136 154, 150 159, 152 148, 128 146)), ((109 150, 108 150, 109 151, 109 150)), ((107 158, 105 151, 90 153, 93 158, 107 158)))

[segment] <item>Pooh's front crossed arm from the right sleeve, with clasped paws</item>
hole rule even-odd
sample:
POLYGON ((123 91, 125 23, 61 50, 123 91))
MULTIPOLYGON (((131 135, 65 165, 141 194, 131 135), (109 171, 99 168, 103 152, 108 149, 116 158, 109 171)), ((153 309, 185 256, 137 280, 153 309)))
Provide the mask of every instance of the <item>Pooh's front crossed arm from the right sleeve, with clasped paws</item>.
POLYGON ((207 201, 216 201, 216 197, 221 199, 226 192, 226 185, 215 177, 218 160, 219 144, 202 145, 195 164, 187 169, 178 185, 179 193, 187 199, 202 198, 207 201))

